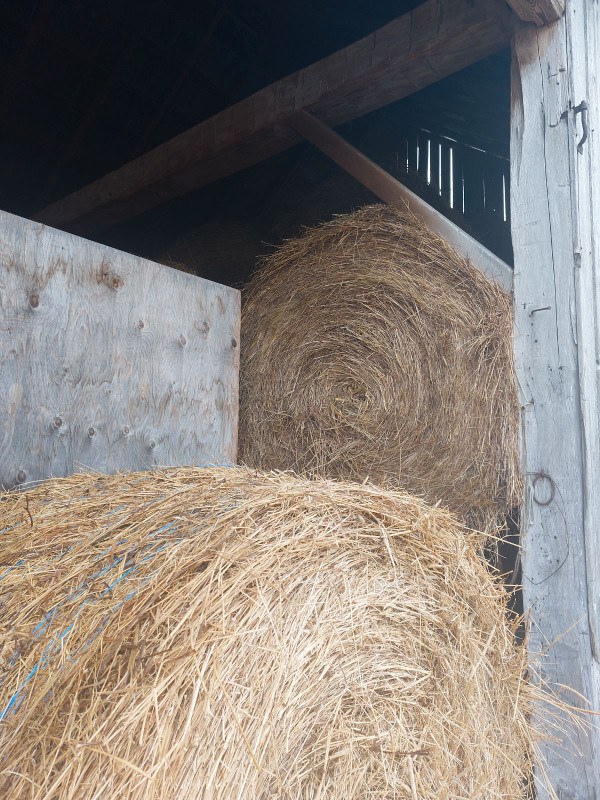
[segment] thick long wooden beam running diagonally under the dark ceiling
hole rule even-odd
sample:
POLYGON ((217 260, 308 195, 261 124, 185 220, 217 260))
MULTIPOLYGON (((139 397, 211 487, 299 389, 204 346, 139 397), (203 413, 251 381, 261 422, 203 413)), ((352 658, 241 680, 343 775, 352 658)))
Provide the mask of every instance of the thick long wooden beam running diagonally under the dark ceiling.
POLYGON ((378 31, 277 81, 59 200, 35 219, 92 232, 140 214, 298 142, 282 123, 316 111, 330 125, 362 116, 510 43, 501 0, 426 0, 378 31))

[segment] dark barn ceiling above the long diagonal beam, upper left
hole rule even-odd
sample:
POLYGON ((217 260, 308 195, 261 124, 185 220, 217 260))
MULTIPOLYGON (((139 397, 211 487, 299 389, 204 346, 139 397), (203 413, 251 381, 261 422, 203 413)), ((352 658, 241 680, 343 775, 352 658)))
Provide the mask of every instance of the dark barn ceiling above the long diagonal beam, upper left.
POLYGON ((419 0, 4 0, 0 205, 28 214, 419 0))

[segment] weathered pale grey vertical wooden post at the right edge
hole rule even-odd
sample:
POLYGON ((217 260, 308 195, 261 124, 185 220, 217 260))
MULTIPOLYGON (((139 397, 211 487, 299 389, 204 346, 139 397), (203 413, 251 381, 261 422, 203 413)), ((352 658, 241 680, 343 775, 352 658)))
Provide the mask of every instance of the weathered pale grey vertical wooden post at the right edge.
MULTIPOLYGON (((600 710, 600 4, 513 39, 511 203, 522 399, 523 592, 544 679, 600 710)), ((590 720, 597 725, 598 718, 590 720)), ((554 791, 596 800, 600 729, 542 747, 554 791)), ((546 792, 540 792, 547 797, 546 792)))

